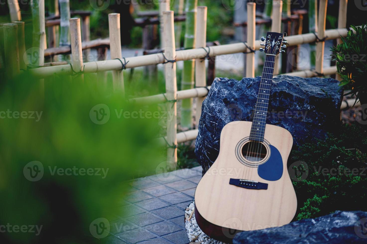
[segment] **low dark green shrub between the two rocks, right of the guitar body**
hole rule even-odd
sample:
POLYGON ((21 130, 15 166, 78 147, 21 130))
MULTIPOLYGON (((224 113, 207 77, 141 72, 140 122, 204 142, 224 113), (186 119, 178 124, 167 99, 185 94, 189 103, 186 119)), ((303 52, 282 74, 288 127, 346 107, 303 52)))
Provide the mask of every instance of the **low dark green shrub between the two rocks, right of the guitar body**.
POLYGON ((306 178, 293 181, 298 200, 295 219, 367 210, 366 135, 358 125, 342 125, 324 140, 292 151, 290 163, 303 161, 303 168, 308 168, 306 178))

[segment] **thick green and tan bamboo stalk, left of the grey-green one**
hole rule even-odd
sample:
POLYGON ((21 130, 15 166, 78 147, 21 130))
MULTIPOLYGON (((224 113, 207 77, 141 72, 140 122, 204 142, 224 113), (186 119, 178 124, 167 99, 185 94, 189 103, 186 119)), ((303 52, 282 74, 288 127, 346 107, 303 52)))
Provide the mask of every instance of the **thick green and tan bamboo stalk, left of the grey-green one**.
POLYGON ((45 30, 45 6, 43 0, 31 0, 32 8, 32 24, 33 24, 33 39, 32 39, 32 54, 30 62, 32 66, 44 65, 44 50, 46 47, 46 30, 45 30), (38 52, 35 54, 34 52, 38 52))

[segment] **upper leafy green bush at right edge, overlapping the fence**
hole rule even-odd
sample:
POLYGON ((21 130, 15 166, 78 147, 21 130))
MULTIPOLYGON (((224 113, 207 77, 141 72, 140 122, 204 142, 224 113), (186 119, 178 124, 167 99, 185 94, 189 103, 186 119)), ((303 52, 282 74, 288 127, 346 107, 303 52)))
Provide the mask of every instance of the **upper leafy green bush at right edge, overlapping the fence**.
MULTIPOLYGON (((346 95, 356 95, 361 103, 367 100, 367 24, 361 27, 350 26, 346 37, 341 37, 343 43, 331 48, 334 52, 333 61, 337 62, 337 71, 342 80, 340 85, 350 90, 346 95)), ((367 102, 367 101, 366 101, 367 102)))

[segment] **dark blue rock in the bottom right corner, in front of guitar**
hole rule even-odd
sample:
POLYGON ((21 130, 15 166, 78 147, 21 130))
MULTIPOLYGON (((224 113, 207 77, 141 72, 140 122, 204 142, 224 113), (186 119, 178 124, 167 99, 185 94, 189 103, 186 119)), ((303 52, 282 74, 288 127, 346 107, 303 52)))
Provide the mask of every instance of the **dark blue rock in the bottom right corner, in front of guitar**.
POLYGON ((245 243, 367 243, 367 212, 336 211, 316 219, 236 234, 233 244, 245 243))

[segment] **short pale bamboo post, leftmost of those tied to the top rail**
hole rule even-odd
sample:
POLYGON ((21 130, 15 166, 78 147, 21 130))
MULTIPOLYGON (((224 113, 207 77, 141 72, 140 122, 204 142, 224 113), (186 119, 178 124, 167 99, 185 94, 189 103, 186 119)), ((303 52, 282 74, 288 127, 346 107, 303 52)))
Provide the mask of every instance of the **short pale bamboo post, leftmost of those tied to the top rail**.
MULTIPOLYGON (((80 19, 70 19, 70 40, 71 40, 71 65, 74 72, 83 72, 83 52, 81 50, 80 19)), ((84 80, 83 74, 74 74, 75 80, 84 80)))

